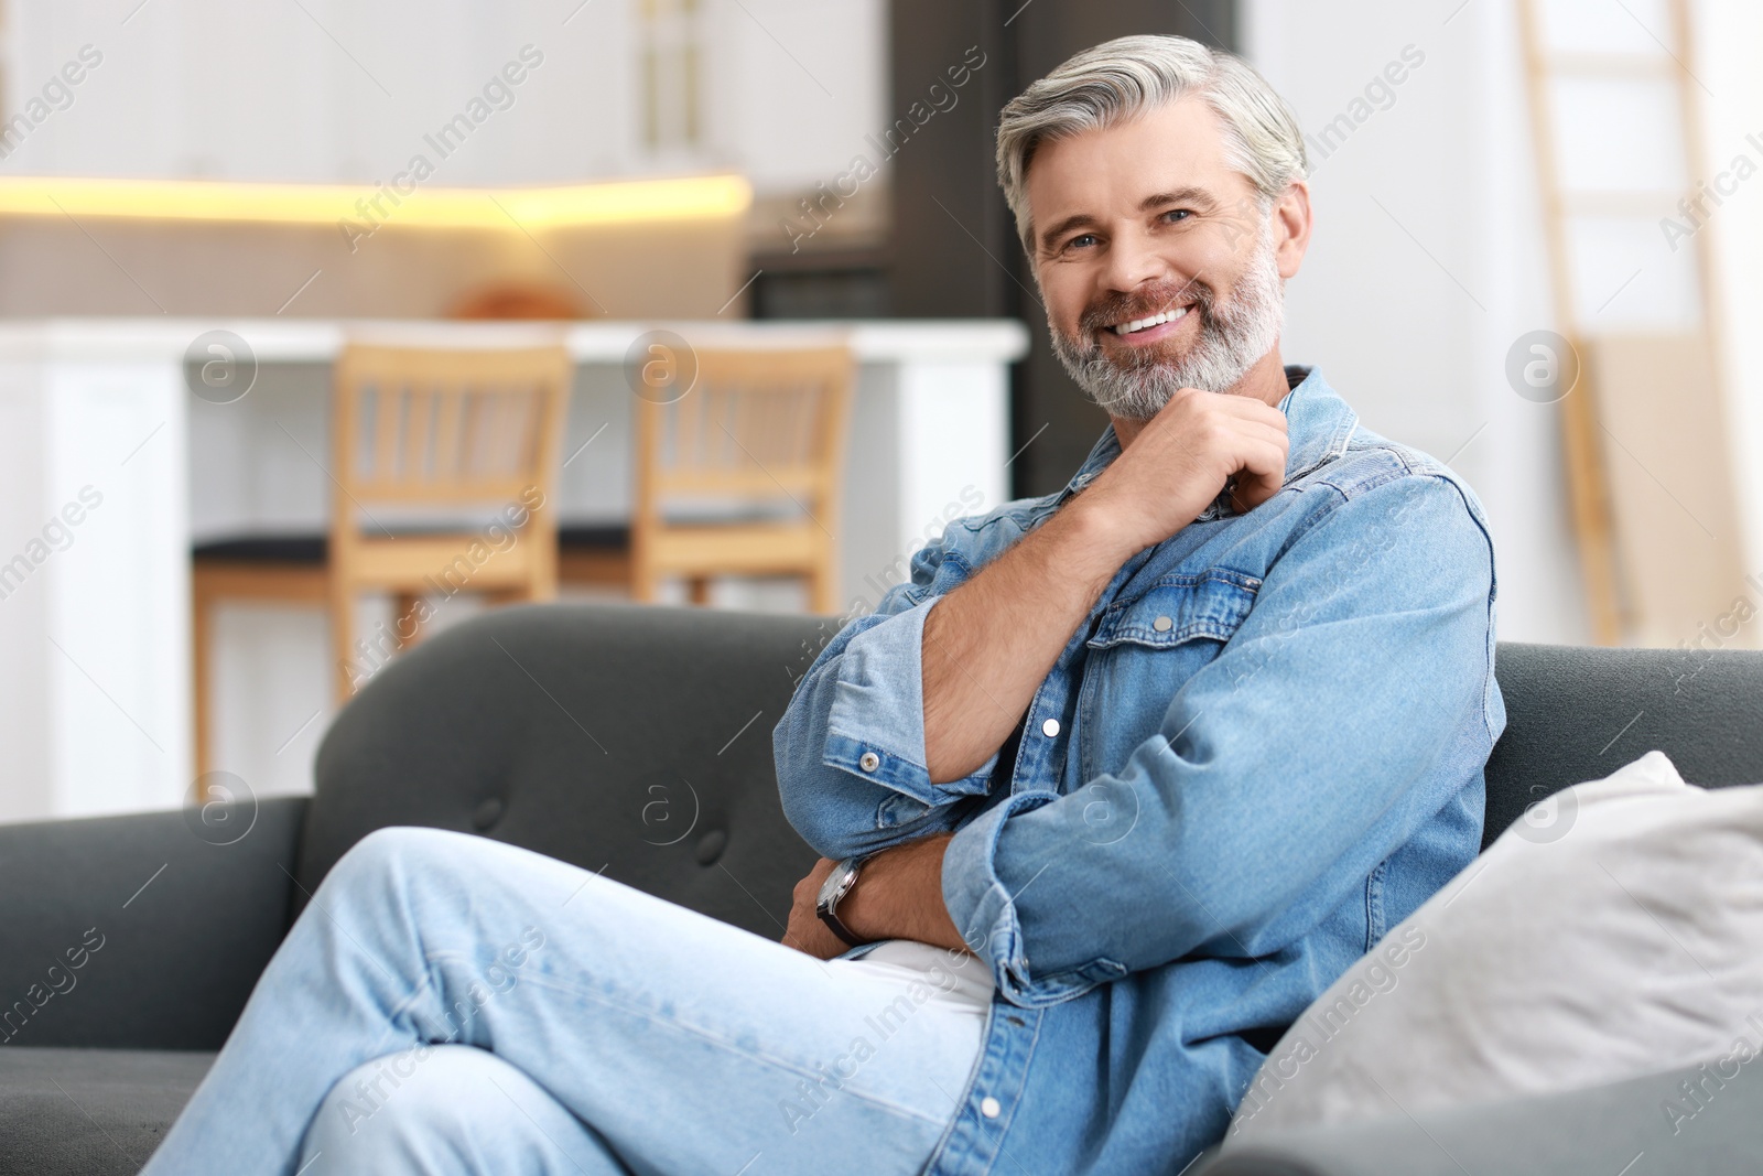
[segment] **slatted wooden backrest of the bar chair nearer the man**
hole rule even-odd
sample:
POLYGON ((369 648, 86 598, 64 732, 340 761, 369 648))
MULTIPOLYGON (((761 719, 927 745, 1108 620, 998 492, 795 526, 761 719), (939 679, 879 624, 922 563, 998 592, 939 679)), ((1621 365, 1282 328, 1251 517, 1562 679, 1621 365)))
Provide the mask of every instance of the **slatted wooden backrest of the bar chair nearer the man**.
POLYGON ((853 361, 846 347, 700 351, 679 398, 638 398, 636 517, 670 499, 777 499, 837 511, 853 361))

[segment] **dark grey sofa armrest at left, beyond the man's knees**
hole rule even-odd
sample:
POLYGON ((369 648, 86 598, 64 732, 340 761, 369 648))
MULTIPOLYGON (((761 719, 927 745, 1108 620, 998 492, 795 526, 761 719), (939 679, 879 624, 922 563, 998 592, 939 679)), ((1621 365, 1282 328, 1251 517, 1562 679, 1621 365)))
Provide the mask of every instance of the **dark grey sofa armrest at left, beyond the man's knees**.
POLYGON ((0 827, 0 1044, 219 1049, 287 931, 305 797, 0 827), (229 841, 217 845, 217 841, 229 841))

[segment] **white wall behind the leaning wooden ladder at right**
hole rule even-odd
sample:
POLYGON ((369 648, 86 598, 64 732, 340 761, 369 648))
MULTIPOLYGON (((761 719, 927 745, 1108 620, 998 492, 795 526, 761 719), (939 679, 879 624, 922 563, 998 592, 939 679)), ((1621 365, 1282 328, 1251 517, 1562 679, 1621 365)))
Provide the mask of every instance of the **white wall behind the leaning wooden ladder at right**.
MULTIPOLYGON (((1670 37, 1661 0, 1551 0, 1546 9, 1551 35, 1580 48, 1648 53, 1657 51, 1654 33, 1670 37)), ((1564 104, 1564 139, 1578 145, 1580 176, 1615 160, 1625 175, 1606 171, 1606 185, 1680 190, 1728 167, 1738 152, 1763 162, 1763 148, 1745 143, 1763 132, 1754 67, 1763 9, 1701 0, 1694 11, 1708 159, 1685 176, 1671 108, 1661 118, 1657 104, 1631 106, 1633 95, 1603 92, 1578 108, 1564 104), (1615 150, 1599 157, 1601 146, 1615 150)), ((1243 26, 1248 56, 1313 134, 1405 48, 1425 55, 1387 109, 1375 109, 1326 157, 1312 145, 1319 227, 1289 289, 1287 354, 1320 363, 1372 428, 1451 460, 1476 487, 1493 520, 1502 636, 1588 640, 1558 409, 1521 400, 1504 376, 1518 335, 1558 328, 1516 5, 1246 0, 1243 26)), ((1744 367, 1751 324, 1763 314, 1759 213, 1763 178, 1708 227, 1726 303, 1728 421, 1749 569, 1763 568, 1763 473, 1754 458, 1763 446, 1763 374, 1744 367)), ((1650 220, 1606 226, 1576 261, 1581 316, 1601 330, 1692 321, 1691 257, 1689 249, 1673 256, 1650 220), (1641 277, 1624 287, 1636 272, 1641 277)))

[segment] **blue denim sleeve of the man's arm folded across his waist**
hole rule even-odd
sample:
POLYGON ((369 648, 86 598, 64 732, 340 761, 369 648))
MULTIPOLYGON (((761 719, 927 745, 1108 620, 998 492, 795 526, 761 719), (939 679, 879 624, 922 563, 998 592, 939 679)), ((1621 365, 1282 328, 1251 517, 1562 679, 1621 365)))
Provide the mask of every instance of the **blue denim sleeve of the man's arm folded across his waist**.
POLYGON ((1342 497, 1127 763, 956 832, 950 917, 1030 1007, 1188 954, 1276 952, 1479 781, 1504 725, 1491 674, 1493 550, 1460 490, 1342 497), (1107 836, 1095 804, 1118 815, 1107 836))

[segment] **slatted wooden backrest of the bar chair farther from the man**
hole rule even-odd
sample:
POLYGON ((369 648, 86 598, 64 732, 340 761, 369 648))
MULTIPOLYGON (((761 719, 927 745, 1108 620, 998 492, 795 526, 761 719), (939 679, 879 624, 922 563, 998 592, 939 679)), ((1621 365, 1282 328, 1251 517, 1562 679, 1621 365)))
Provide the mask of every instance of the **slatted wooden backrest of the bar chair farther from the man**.
POLYGON ((331 420, 338 522, 376 502, 464 508, 529 487, 550 494, 569 377, 561 346, 349 344, 331 420))

